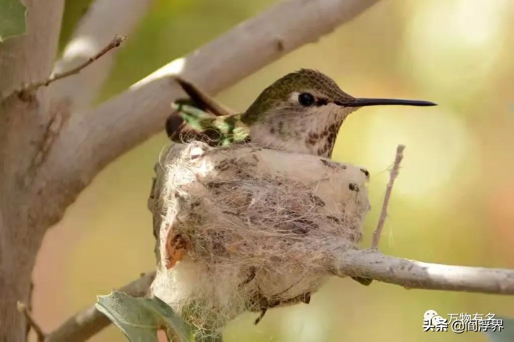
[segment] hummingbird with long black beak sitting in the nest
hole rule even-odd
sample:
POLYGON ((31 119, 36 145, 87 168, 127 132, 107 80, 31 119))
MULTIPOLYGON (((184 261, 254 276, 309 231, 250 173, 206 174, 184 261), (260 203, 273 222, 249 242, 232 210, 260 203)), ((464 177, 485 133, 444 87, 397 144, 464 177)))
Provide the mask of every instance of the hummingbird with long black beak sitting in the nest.
POLYGON ((177 78, 189 95, 173 104, 178 112, 167 121, 176 142, 210 145, 252 142, 292 153, 331 158, 339 129, 350 113, 378 105, 435 106, 429 101, 355 98, 324 73, 300 69, 286 74, 242 113, 218 104, 192 83, 177 78))

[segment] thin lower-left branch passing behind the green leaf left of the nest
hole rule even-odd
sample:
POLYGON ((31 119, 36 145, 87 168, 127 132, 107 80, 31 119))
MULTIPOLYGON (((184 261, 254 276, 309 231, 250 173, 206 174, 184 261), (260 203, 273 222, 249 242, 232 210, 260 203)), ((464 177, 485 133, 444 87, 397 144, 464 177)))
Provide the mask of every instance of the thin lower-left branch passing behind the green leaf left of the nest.
MULTIPOLYGON (((144 297, 148 294, 154 278, 155 272, 146 273, 119 291, 133 297, 144 297)), ((109 324, 111 321, 92 305, 68 318, 59 328, 47 335, 45 342, 85 341, 109 324)))

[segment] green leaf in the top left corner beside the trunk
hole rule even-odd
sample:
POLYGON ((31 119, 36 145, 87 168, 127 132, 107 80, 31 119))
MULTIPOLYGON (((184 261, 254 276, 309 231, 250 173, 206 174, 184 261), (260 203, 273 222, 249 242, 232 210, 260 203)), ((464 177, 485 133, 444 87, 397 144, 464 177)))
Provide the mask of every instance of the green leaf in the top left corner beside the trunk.
POLYGON ((25 33, 25 13, 20 0, 0 0, 0 42, 25 33))

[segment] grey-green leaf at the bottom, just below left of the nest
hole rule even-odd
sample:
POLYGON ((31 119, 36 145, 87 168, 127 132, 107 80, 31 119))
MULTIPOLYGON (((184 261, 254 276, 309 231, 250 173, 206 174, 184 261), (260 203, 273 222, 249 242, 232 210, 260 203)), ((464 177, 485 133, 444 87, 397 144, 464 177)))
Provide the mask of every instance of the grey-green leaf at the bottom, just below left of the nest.
POLYGON ((157 330, 168 328, 182 341, 188 341, 188 325, 162 300, 135 298, 113 291, 98 296, 96 308, 113 321, 131 342, 157 341, 157 330))

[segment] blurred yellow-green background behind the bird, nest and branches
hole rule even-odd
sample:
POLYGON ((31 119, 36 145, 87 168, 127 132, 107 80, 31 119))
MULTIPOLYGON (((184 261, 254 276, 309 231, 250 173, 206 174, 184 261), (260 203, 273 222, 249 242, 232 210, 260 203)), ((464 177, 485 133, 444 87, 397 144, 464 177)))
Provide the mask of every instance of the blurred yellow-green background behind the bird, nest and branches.
MULTIPOLYGON (((88 3, 66 2, 61 48, 88 3)), ((119 51, 98 101, 273 3, 156 0, 119 51)), ((331 75, 354 96, 438 103, 364 108, 344 123, 334 159, 371 172, 373 209, 362 246, 369 245, 387 169, 402 143, 405 160, 381 250, 429 262, 514 268, 512 32, 511 0, 383 0, 217 98, 245 110, 272 81, 308 67, 331 75)), ((166 144, 162 132, 109 165, 48 232, 34 274, 35 316, 46 330, 91 305, 96 295, 155 268, 146 200, 154 162, 166 144)), ((423 332, 428 309, 443 316, 491 312, 514 317, 514 299, 332 279, 309 305, 273 309, 258 326, 252 324, 254 314, 243 315, 224 336, 227 342, 486 341, 475 332, 423 332)), ((125 337, 110 327, 92 340, 125 337)))

